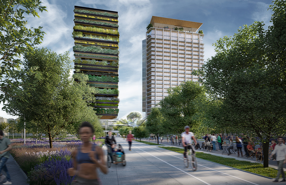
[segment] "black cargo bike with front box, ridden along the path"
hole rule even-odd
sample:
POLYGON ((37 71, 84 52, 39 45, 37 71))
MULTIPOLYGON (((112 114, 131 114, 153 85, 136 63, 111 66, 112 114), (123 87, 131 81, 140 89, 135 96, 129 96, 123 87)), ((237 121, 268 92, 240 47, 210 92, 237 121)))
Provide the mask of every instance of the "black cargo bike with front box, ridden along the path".
POLYGON ((123 166, 126 166, 126 160, 125 160, 125 152, 123 147, 118 144, 115 148, 117 149, 117 152, 113 152, 111 146, 109 144, 106 144, 107 146, 107 166, 108 168, 111 167, 111 164, 118 164, 121 163, 123 166))

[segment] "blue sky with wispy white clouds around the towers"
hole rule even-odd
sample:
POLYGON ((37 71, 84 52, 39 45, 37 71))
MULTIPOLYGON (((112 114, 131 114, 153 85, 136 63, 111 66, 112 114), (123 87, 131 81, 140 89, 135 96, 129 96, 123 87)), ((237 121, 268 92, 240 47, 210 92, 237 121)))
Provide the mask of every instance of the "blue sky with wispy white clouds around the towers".
MULTIPOLYGON (((119 43, 119 98, 118 118, 133 110, 142 112, 142 40, 152 16, 203 23, 204 61, 215 56, 212 46, 225 35, 232 36, 239 27, 263 21, 265 29, 271 23, 271 0, 41 0, 48 12, 39 12, 40 19, 25 16, 27 27, 43 27, 43 43, 56 53, 69 51, 74 59, 72 38, 74 6, 118 12, 119 43)), ((17 118, 0 111, 4 118, 17 118)))

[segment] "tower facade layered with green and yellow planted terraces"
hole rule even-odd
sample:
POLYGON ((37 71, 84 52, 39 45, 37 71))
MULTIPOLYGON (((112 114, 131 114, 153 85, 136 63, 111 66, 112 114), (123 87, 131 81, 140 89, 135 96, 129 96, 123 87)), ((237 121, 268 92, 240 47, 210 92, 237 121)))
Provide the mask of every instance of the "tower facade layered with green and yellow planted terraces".
POLYGON ((94 110, 101 119, 118 116, 118 12, 75 6, 75 73, 88 75, 98 90, 94 110))

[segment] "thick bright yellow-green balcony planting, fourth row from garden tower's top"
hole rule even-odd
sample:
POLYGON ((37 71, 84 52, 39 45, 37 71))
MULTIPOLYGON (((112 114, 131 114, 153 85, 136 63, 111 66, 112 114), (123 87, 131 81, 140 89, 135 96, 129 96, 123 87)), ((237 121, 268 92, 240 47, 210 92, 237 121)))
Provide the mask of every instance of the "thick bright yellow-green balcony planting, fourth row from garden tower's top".
POLYGON ((81 31, 81 32, 88 32, 88 33, 97 33, 97 34, 103 34, 103 35, 114 35, 118 36, 119 32, 118 30, 113 29, 103 29, 96 26, 83 26, 83 25, 75 25, 74 26, 75 31, 81 31))

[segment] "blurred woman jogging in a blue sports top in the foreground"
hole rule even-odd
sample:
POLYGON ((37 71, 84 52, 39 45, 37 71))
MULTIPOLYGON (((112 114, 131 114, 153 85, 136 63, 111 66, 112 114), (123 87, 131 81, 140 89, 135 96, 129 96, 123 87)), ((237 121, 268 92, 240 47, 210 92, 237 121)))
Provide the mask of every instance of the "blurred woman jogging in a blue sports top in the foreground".
POLYGON ((93 133, 93 126, 89 122, 83 122, 79 129, 83 144, 72 152, 74 168, 68 169, 70 176, 77 176, 72 185, 101 185, 97 168, 107 174, 102 148, 90 142, 93 133))

